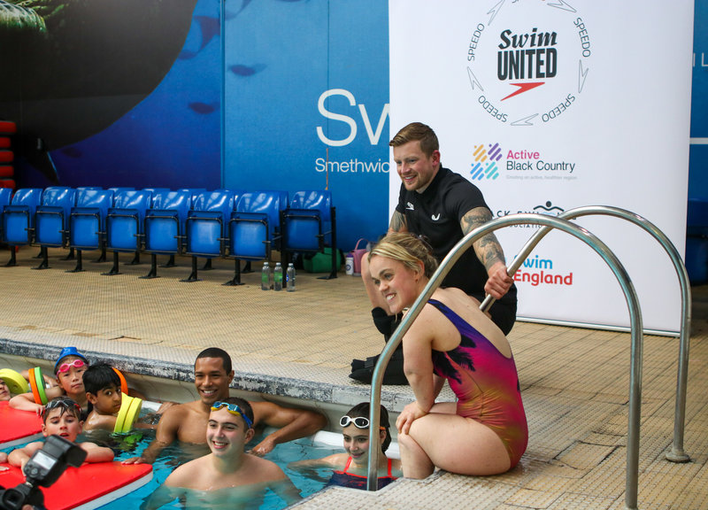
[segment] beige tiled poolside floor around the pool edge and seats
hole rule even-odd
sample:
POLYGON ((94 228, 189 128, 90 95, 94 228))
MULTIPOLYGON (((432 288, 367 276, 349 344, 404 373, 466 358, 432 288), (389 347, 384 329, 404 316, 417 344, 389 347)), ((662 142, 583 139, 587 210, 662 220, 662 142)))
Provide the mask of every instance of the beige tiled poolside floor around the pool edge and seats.
MULTIPOLYGON (((35 362, 73 344, 135 374, 186 380, 196 353, 216 345, 235 359, 235 386, 252 394, 306 398, 323 409, 368 398, 368 387, 347 377, 349 364, 379 352, 382 342, 357 278, 298 274, 295 293, 264 292, 258 273, 244 274, 241 287, 222 286, 233 273, 226 260, 200 271, 201 282, 184 283, 188 259, 142 280, 147 265, 121 264, 123 274, 102 275, 111 264, 89 262, 96 252, 84 254, 83 273, 65 273, 74 267, 58 259, 65 251, 51 251, 50 269, 34 271, 35 253, 20 250, 18 267, 0 267, 0 365, 10 359, 3 354, 35 362)), ((691 460, 664 460, 678 340, 647 336, 639 508, 708 509, 708 288, 693 292, 684 441, 691 460)), ((376 493, 332 488, 300 507, 624 508, 629 335, 519 322, 509 338, 530 429, 519 467, 486 478, 438 473, 376 493)), ((157 398, 145 381, 142 390, 157 398)), ((400 410, 411 396, 407 387, 384 387, 383 402, 400 410)))

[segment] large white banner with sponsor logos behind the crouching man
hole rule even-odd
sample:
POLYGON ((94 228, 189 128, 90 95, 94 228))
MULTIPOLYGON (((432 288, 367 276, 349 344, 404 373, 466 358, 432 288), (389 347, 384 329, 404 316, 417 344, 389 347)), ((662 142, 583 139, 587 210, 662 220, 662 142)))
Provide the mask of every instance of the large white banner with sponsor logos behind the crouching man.
MULTIPOLYGON (((443 166, 495 217, 612 205, 683 253, 692 34, 692 0, 389 0, 391 135, 435 129, 443 166)), ((392 172, 390 212, 399 187, 392 172)), ((659 243, 625 220, 576 222, 627 268, 644 328, 678 331, 678 278, 659 243)), ((507 264, 535 231, 496 231, 507 264)), ((516 280, 519 318, 629 325, 610 268, 563 232, 516 280)))

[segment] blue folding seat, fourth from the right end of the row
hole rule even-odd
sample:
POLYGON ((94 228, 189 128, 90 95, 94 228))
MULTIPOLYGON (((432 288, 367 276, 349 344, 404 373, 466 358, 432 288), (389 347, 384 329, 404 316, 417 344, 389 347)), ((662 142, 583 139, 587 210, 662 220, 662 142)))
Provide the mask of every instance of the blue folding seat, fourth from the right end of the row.
POLYGON ((152 197, 152 208, 145 212, 144 251, 151 254, 150 273, 142 278, 158 277, 158 254, 170 255, 167 267, 174 266, 174 255, 181 253, 185 222, 191 205, 188 190, 158 192, 152 197))

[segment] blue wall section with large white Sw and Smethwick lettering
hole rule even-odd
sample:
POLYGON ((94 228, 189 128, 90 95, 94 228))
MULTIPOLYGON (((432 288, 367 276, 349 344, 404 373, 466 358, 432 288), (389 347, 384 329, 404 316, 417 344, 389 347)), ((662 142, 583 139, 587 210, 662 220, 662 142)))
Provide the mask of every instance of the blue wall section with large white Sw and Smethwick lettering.
POLYGON ((242 4, 227 1, 225 187, 328 188, 340 247, 375 240, 388 227, 388 4, 242 4))

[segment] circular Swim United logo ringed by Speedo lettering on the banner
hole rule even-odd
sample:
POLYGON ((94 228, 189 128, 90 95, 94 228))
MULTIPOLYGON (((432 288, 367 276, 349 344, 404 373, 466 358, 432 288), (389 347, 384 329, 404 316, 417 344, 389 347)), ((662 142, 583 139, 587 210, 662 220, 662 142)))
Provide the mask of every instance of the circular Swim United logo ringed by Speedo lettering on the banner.
MULTIPOLYGON (((589 74, 588 27, 574 2, 493 0, 466 48, 466 77, 475 104, 509 126, 564 118, 589 74)), ((476 107, 474 108, 476 114, 476 107)))

